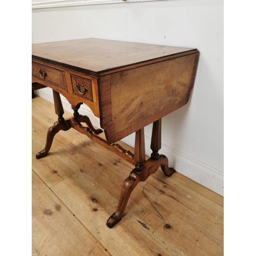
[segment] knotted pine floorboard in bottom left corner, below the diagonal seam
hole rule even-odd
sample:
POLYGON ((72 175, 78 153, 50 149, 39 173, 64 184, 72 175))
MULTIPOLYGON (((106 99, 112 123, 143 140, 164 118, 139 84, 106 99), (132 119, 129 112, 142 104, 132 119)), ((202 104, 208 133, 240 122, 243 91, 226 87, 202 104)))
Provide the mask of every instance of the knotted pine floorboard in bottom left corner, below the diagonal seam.
POLYGON ((109 255, 33 171, 32 255, 109 255))

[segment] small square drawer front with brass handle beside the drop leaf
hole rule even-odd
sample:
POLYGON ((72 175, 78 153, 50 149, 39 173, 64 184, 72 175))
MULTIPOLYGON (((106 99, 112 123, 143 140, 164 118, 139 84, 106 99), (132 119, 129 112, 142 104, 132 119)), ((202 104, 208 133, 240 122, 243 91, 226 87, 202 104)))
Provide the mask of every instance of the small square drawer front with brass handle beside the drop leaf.
POLYGON ((73 94, 93 101, 92 80, 72 74, 70 76, 73 94))

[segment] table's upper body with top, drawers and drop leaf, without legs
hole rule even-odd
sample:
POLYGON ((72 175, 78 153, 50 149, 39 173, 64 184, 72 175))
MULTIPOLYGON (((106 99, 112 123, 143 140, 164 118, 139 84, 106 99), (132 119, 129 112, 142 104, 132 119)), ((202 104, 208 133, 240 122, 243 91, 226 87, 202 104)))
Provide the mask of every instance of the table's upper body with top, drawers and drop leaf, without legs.
POLYGON ((32 83, 75 109, 86 103, 114 143, 188 102, 198 56, 193 48, 96 38, 48 42, 32 45, 32 83))

